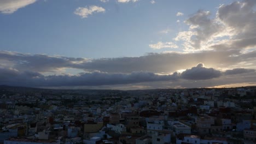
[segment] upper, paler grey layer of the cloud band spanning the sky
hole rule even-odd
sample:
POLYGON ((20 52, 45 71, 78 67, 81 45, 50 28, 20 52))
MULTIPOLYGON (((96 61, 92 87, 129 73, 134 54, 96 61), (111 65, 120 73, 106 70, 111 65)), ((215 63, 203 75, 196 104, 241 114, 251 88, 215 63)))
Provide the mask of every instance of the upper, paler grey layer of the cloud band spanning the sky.
POLYGON ((88 59, 0 51, 0 67, 11 67, 19 71, 30 69, 39 73, 57 73, 65 68, 73 68, 91 72, 99 70, 107 73, 150 71, 170 74, 179 69, 191 68, 196 63, 205 63, 219 69, 234 69, 237 67, 256 69, 255 55, 256 51, 241 53, 238 50, 219 50, 194 53, 148 53, 140 57, 88 59))

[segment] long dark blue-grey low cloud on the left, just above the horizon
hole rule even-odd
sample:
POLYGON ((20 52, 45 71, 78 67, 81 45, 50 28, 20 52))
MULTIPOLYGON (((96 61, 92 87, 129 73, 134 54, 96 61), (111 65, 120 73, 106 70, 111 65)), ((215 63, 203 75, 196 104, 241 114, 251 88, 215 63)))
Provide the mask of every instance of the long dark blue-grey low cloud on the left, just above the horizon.
POLYGON ((0 85, 51 87, 51 86, 100 86, 127 83, 175 81, 178 74, 157 75, 149 72, 133 72, 131 74, 109 74, 95 71, 79 75, 43 76, 33 71, 19 72, 14 69, 0 69, 0 85))

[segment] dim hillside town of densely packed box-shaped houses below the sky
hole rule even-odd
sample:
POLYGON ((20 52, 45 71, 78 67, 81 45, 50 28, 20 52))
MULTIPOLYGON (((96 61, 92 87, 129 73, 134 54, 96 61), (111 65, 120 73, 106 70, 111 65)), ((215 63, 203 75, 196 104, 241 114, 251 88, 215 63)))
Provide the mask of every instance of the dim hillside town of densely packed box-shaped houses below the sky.
POLYGON ((256 87, 54 90, 1 86, 0 143, 256 143, 256 87))

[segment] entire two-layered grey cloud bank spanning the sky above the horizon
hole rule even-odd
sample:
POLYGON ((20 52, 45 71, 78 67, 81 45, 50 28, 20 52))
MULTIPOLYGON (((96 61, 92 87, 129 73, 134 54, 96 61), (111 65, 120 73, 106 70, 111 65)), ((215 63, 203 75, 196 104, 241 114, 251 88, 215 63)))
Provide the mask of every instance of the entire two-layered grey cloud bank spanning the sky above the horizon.
POLYGON ((236 50, 171 52, 149 53, 141 57, 86 59, 0 51, 0 85, 48 88, 110 88, 125 85, 129 88, 130 85, 132 88, 136 83, 150 88, 173 88, 255 82, 255 53, 236 50), (206 68, 202 62, 212 68, 206 68), (193 67, 196 63, 199 64, 193 67), (237 68, 241 65, 243 68, 237 68), (231 69, 221 71, 226 68, 231 69), (67 74, 65 69, 86 72, 67 74), (174 72, 180 69, 186 70, 174 72))

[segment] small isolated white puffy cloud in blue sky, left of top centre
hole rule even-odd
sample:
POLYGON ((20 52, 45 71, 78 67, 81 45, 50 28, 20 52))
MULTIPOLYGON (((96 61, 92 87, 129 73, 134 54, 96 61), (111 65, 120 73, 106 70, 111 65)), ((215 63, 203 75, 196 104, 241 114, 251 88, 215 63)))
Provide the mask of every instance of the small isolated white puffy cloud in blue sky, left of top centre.
POLYGON ((79 7, 75 9, 74 14, 81 16, 82 18, 86 18, 89 15, 94 13, 103 13, 105 11, 104 8, 98 7, 96 5, 91 5, 89 7, 79 7))

